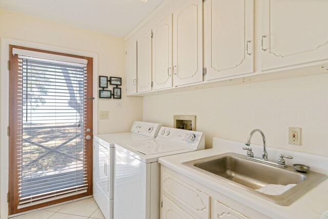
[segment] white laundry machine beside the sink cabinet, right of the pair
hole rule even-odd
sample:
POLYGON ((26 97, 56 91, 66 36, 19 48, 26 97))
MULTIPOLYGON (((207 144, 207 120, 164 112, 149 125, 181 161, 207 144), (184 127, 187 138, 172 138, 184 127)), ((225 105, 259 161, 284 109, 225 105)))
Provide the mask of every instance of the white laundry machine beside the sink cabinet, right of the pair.
POLYGON ((158 158, 204 149, 204 134, 161 127, 154 140, 115 144, 114 219, 157 219, 158 158))

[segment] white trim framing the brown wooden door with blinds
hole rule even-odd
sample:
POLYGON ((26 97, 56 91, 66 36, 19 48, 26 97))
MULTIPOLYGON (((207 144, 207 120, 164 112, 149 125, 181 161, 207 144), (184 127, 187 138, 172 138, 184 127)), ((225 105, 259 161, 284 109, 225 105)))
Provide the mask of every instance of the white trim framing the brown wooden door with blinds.
POLYGON ((98 113, 97 112, 97 75, 98 75, 98 54, 53 47, 48 45, 36 44, 26 41, 19 41, 10 38, 1 38, 1 147, 0 147, 0 217, 8 218, 8 166, 9 166, 9 151, 7 127, 9 125, 9 71, 7 62, 9 60, 9 45, 30 47, 35 49, 50 50, 55 52, 69 53, 93 58, 93 95, 96 97, 93 100, 93 135, 98 133, 98 113))

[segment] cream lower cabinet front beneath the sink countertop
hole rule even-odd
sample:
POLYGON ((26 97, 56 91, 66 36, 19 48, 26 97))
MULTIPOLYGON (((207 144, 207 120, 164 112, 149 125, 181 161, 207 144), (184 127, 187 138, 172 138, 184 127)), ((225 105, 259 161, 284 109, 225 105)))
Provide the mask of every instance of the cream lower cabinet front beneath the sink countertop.
POLYGON ((161 219, 270 218, 163 165, 160 188, 161 219))

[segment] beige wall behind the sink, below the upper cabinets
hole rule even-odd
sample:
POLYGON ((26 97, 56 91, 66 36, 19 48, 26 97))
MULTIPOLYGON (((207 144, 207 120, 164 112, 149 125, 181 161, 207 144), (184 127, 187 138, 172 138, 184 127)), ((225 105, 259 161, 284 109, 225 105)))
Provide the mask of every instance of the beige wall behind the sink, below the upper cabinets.
POLYGON ((328 74, 144 97, 144 120, 173 126, 173 115, 196 115, 207 148, 259 128, 269 147, 328 155, 328 74), (302 128, 302 146, 288 144, 289 126, 302 128))

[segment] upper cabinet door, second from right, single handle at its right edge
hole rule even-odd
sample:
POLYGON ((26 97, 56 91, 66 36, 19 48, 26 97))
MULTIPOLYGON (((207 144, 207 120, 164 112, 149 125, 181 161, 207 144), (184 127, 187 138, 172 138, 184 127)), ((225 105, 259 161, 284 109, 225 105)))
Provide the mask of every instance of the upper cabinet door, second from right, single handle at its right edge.
POLYGON ((206 79, 253 69, 254 0, 208 0, 204 3, 206 79))

